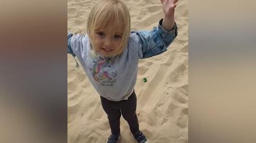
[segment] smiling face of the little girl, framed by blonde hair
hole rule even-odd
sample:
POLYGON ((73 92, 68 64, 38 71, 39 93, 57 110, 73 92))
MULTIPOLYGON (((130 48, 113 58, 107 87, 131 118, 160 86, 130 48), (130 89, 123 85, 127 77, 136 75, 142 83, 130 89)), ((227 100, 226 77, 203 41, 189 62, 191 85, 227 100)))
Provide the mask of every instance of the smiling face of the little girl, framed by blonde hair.
POLYGON ((109 22, 105 27, 96 28, 94 31, 94 49, 103 56, 118 54, 121 46, 123 30, 118 26, 114 33, 114 22, 109 22))

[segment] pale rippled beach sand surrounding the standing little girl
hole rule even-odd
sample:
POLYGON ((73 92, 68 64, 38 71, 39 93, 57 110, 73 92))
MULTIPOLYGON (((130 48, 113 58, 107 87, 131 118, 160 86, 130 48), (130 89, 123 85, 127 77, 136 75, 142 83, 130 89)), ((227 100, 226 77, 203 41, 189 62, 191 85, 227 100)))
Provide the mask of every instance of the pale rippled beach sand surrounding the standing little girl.
MULTIPOLYGON (((151 30, 163 17, 160 1, 126 0, 132 30, 151 30)), ((95 1, 68 0, 68 31, 86 33, 95 1)), ((178 36, 169 49, 139 61, 135 91, 140 130, 150 142, 188 142, 188 1, 179 0, 178 36), (143 82, 147 78, 147 82, 143 82)), ((110 134, 100 96, 81 67, 68 56, 68 142, 106 142, 110 134)), ((121 117, 120 143, 136 142, 121 117)))

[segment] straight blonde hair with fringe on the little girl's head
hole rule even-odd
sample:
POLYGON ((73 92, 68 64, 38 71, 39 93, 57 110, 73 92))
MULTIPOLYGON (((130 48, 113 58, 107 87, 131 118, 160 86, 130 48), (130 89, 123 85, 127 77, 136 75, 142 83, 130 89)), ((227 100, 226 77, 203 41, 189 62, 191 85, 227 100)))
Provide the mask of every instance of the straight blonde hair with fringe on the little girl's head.
MULTIPOLYGON (((114 33, 118 26, 124 28, 121 47, 117 54, 121 54, 128 43, 131 22, 130 13, 124 2, 121 0, 101 0, 92 8, 87 21, 87 34, 93 46, 94 31, 96 28, 105 27, 109 20, 114 21, 114 33)), ((113 34, 114 34, 113 33, 113 34)))

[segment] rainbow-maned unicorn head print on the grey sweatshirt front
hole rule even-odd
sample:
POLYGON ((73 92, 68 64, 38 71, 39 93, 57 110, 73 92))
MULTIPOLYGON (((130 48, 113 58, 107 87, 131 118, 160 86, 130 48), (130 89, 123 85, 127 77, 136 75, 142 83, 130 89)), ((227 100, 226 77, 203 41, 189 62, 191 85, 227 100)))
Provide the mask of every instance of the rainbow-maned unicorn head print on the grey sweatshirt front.
POLYGON ((101 58, 93 61, 94 65, 92 70, 93 78, 97 82, 102 80, 112 80, 117 76, 117 71, 114 68, 115 58, 101 58))

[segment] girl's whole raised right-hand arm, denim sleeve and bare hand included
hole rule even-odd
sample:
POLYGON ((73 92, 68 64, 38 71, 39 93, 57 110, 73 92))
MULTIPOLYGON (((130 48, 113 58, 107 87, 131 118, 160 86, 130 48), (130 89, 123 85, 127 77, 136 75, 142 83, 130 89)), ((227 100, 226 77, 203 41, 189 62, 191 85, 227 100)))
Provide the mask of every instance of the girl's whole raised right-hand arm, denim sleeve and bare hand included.
POLYGON ((174 11, 178 0, 161 0, 164 18, 159 21, 159 26, 152 31, 137 31, 139 41, 139 58, 149 58, 163 53, 177 37, 177 25, 174 20, 174 11))

